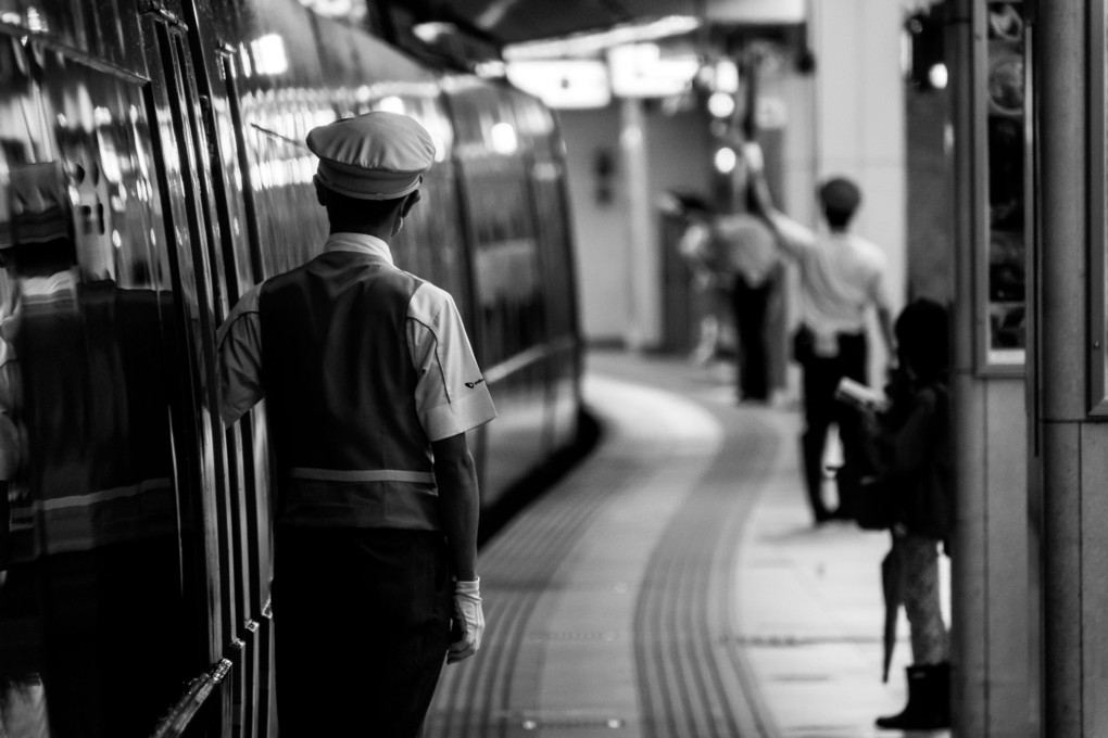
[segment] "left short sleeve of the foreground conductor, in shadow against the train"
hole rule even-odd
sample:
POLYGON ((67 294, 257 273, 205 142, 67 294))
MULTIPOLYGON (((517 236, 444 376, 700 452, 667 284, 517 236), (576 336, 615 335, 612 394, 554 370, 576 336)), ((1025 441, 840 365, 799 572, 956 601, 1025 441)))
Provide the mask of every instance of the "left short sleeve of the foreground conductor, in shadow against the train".
POLYGON ((261 399, 261 315, 258 293, 254 285, 235 304, 219 326, 219 380, 223 388, 219 415, 230 425, 261 399))

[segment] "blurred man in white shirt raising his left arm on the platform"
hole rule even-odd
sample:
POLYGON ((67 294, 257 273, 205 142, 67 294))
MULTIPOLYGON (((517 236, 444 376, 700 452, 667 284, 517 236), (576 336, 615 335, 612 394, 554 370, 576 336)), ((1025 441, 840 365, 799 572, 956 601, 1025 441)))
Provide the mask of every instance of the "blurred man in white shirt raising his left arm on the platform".
POLYGON ((753 209, 777 232, 777 242, 800 270, 801 325, 793 341, 793 358, 803 368, 806 428, 801 450, 812 513, 817 524, 833 517, 852 518, 848 486, 840 485, 838 510, 828 510, 823 503, 823 450, 832 423, 839 427, 844 458, 849 460, 860 450, 858 418, 834 399, 834 389, 844 376, 866 384, 870 305, 876 309, 888 355, 896 355, 884 287, 885 257, 879 247, 849 230, 861 202, 854 183, 833 177, 820 187, 828 230, 817 233, 773 207, 760 147, 748 144, 745 155, 751 171, 753 209))

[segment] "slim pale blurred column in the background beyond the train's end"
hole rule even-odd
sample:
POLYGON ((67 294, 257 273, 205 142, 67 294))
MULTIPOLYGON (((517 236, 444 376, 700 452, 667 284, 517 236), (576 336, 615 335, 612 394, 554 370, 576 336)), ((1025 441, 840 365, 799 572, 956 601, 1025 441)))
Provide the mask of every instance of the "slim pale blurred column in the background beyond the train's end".
POLYGON ((657 346, 660 341, 661 294, 656 232, 650 219, 649 166, 643 101, 619 102, 619 149, 627 197, 627 329, 628 349, 657 346))

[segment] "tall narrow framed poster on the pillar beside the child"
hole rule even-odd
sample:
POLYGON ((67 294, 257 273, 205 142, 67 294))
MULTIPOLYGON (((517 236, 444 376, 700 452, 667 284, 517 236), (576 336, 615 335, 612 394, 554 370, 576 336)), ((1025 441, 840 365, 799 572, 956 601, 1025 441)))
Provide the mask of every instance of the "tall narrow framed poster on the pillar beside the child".
POLYGON ((1025 25, 1020 2, 984 8, 985 256, 977 289, 987 316, 983 368, 1022 371, 1026 336, 1025 25))

